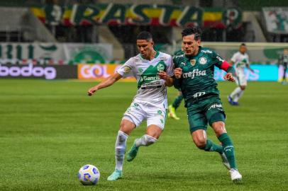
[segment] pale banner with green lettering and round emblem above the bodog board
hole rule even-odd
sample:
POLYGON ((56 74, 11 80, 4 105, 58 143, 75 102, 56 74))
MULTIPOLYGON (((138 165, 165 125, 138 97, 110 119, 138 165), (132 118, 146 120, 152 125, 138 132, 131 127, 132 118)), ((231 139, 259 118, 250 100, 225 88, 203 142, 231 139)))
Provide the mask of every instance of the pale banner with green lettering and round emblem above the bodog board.
POLYGON ((112 45, 97 43, 0 43, 1 64, 105 63, 111 60, 112 45))

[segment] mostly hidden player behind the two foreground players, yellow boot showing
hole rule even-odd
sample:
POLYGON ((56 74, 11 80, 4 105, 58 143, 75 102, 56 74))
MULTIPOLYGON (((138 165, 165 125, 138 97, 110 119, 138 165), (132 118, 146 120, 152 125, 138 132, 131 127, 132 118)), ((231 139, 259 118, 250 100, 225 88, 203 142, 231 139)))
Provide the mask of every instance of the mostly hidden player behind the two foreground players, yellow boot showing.
MULTIPOLYGON (((177 52, 174 53, 174 57, 177 55, 184 54, 183 49, 178 50, 177 52)), ((173 100, 173 103, 169 105, 168 107, 168 117, 171 117, 172 119, 175 120, 180 120, 179 117, 177 117, 176 110, 179 108, 179 105, 182 103, 183 100, 183 95, 181 92, 181 89, 178 89, 178 96, 173 100)))

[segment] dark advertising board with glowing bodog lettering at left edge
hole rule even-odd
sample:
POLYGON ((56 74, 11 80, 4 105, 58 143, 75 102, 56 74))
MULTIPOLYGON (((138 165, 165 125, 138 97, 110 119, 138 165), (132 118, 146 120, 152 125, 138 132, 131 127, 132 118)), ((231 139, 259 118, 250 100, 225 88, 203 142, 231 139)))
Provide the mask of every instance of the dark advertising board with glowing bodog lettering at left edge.
POLYGON ((1 78, 17 79, 77 79, 77 66, 12 65, 0 64, 1 78))

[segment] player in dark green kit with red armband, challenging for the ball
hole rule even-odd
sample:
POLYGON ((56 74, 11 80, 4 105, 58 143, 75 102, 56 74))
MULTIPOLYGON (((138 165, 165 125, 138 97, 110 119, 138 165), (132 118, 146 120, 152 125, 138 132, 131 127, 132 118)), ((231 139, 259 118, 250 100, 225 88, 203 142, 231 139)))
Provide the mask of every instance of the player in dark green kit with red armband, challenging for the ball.
MULTIPOLYGON (((216 52, 200 46, 201 29, 186 28, 182 31, 184 54, 174 57, 174 85, 181 88, 194 144, 204 151, 216 151, 221 155, 223 164, 230 170, 231 180, 242 179, 236 165, 234 146, 225 127, 225 112, 219 98, 217 83, 214 79, 214 66, 227 71, 224 79, 235 81, 235 69, 216 52), (209 124, 221 141, 221 145, 207 139, 209 124)), ((165 74, 160 78, 170 80, 165 74)))

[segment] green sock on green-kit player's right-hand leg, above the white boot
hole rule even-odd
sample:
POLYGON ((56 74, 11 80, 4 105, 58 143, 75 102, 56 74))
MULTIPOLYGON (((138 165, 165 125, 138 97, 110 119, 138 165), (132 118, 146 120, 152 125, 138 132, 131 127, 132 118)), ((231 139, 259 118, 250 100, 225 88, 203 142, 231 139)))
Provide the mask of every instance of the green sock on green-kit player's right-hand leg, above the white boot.
POLYGON ((235 159, 235 154, 234 154, 234 146, 231 138, 227 133, 223 133, 218 137, 219 141, 221 141, 222 146, 223 146, 223 151, 228 159, 228 162, 231 166, 231 168, 236 168, 236 159, 235 159))

